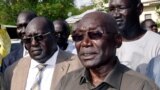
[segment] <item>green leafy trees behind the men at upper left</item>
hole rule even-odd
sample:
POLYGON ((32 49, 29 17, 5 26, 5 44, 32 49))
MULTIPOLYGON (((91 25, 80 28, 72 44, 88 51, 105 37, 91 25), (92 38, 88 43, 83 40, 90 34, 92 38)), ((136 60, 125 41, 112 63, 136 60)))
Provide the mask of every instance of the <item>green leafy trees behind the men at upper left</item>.
POLYGON ((0 23, 16 24, 16 18, 21 11, 32 10, 40 16, 48 17, 51 20, 66 19, 68 12, 72 15, 81 11, 74 7, 73 0, 0 0, 0 23))

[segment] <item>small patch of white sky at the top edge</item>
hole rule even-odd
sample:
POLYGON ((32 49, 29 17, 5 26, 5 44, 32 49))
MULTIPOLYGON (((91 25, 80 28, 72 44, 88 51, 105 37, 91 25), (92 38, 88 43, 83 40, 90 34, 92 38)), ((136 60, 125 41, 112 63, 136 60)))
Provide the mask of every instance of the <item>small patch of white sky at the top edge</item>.
POLYGON ((81 6, 87 6, 92 4, 92 0, 75 0, 75 5, 80 8, 81 6))

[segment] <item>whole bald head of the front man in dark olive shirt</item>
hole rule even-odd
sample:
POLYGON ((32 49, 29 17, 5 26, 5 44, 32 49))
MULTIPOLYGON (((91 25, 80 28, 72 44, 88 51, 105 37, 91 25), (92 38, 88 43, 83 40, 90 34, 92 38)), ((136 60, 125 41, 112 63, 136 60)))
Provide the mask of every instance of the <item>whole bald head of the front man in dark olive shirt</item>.
POLYGON ((86 14, 72 33, 78 56, 86 68, 96 68, 113 61, 122 39, 115 19, 103 12, 86 14))

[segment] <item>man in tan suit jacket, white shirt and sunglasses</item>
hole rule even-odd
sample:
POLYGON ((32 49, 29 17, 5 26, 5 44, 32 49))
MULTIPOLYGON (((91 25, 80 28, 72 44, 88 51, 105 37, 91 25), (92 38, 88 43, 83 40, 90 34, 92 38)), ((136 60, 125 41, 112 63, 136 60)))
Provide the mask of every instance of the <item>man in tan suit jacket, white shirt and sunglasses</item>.
POLYGON ((40 90, 55 90, 63 75, 81 67, 76 56, 59 49, 54 33, 52 22, 45 17, 36 17, 29 22, 22 41, 30 56, 6 69, 7 90, 31 90, 39 64, 45 65, 41 71, 40 90))

